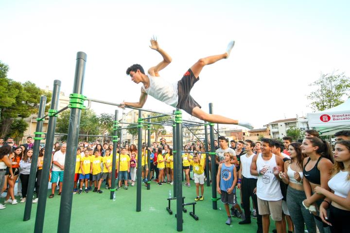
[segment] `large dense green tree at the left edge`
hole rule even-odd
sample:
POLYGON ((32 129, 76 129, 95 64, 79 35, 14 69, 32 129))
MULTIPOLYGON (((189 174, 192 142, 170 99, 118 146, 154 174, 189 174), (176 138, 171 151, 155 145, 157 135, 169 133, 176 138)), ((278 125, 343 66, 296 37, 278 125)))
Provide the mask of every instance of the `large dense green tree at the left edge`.
POLYGON ((14 119, 26 118, 38 111, 40 96, 51 100, 51 93, 40 90, 34 83, 19 83, 7 78, 9 67, 0 61, 0 137, 9 134, 14 119))

